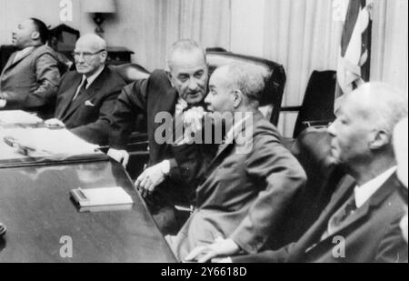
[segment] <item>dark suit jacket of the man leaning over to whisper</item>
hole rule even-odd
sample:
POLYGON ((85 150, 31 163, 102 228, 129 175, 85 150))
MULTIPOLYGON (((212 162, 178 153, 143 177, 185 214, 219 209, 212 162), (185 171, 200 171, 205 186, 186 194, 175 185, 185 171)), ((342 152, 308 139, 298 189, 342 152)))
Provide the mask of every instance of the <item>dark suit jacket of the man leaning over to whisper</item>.
MULTIPOLYGON (((195 148, 176 147, 155 141, 156 129, 165 124, 163 120, 156 123, 155 116, 161 112, 175 115, 178 96, 163 70, 155 70, 148 79, 125 86, 115 105, 110 146, 125 149, 129 135, 134 129, 136 117, 145 114, 149 141, 149 166, 171 159, 170 178, 190 185, 205 162, 196 161, 195 154, 189 152, 196 151, 195 148), (175 155, 178 155, 177 162, 175 155)), ((192 185, 195 186, 195 184, 192 185)))

